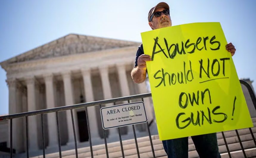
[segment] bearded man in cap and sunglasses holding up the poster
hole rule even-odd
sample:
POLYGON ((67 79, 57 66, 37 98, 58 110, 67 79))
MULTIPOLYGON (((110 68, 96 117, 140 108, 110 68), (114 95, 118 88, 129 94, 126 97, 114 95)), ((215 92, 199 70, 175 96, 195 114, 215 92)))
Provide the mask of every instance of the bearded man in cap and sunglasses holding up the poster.
MULTIPOLYGON (((169 6, 161 2, 153 7, 148 14, 149 26, 151 29, 160 29, 172 26, 169 6)), ((227 51, 233 56, 235 47, 232 43, 226 45, 227 51)), ((131 72, 132 79, 135 83, 142 83, 146 79, 146 62, 151 61, 149 55, 144 54, 143 45, 138 48, 135 60, 135 66, 131 72)), ((216 133, 192 136, 196 151, 201 158, 220 158, 218 151, 218 142, 216 133)), ((168 158, 188 158, 188 137, 173 140, 164 140, 163 147, 168 158)))

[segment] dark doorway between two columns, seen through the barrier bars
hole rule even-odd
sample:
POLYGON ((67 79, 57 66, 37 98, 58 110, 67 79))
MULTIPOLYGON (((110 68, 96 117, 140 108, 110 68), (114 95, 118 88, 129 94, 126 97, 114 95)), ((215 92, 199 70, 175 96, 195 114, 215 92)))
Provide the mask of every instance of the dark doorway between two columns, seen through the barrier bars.
POLYGON ((79 128, 80 142, 86 142, 89 140, 88 127, 85 111, 77 112, 77 122, 79 128))

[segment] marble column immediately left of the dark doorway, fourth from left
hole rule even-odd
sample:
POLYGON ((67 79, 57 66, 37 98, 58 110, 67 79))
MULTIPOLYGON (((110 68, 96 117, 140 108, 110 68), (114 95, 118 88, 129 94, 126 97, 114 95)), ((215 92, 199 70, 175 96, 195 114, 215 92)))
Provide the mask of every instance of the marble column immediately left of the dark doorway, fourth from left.
MULTIPOLYGON (((65 94, 65 106, 74 105, 74 97, 73 97, 73 87, 71 82, 71 72, 63 72, 63 83, 64 83, 64 94, 65 94)), ((72 125, 72 118, 70 110, 66 110, 67 124, 68 124, 68 145, 73 144, 74 141, 74 132, 72 125)), ((77 125, 77 113, 76 110, 73 109, 73 118, 74 118, 74 126, 76 132, 77 142, 79 141, 79 131, 77 125)))

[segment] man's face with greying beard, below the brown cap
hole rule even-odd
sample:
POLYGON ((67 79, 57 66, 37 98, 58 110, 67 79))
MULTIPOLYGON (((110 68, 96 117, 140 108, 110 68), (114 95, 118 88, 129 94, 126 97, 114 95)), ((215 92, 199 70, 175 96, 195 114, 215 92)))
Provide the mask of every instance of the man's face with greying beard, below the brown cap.
MULTIPOLYGON (((163 10, 166 10, 165 8, 163 7, 159 7, 157 9, 155 9, 154 12, 161 12, 163 10)), ((171 26, 171 18, 170 18, 170 15, 164 15, 164 13, 162 12, 162 14, 159 16, 159 17, 155 17, 153 15, 153 18, 152 18, 152 21, 149 22, 149 26, 152 28, 152 29, 160 29, 160 28, 163 28, 163 27, 168 27, 168 26, 171 26)))

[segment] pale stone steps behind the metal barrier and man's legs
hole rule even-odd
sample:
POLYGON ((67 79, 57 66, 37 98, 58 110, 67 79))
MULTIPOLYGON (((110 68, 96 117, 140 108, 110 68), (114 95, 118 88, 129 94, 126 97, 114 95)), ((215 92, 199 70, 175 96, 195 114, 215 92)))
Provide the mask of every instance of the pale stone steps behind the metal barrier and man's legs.
MULTIPOLYGON (((254 137, 256 137, 256 118, 252 118, 254 127, 252 128, 252 132, 254 137)), ((250 134, 249 129, 239 129, 238 130, 240 139, 243 144, 243 148, 245 149, 246 156, 248 158, 256 158, 256 146, 252 139, 252 135, 250 134)), ((238 137, 235 131, 227 131, 224 132, 226 141, 230 150, 230 154, 232 158, 243 158, 243 152, 241 150, 240 143, 238 141, 238 137)), ((221 153, 222 158, 229 158, 227 153, 227 148, 224 143, 224 139, 222 137, 221 132, 217 133, 218 137, 218 145, 219 151, 221 153)), ((150 146, 149 137, 141 137, 137 139, 138 147, 141 158, 153 158, 152 149, 150 146)), ((152 135, 152 142, 154 146, 155 156, 157 158, 167 158, 166 153, 163 149, 162 142, 159 140, 158 135, 152 135)), ((137 150, 135 146, 135 140, 124 140, 123 142, 124 155, 125 158, 138 158, 137 150)), ((195 146, 193 144, 192 139, 189 137, 188 140, 189 158, 198 158, 198 154, 195 150, 195 146)), ((120 142, 108 143, 108 153, 109 158, 122 158, 120 142)), ((46 154, 46 158, 57 158, 59 157, 59 153, 46 154)), ((62 158, 75 158, 75 150, 62 151, 62 158)), ((91 158, 90 147, 79 148, 78 149, 78 157, 79 158, 91 158)), ((93 146, 93 157, 94 158, 106 158, 106 150, 105 144, 93 146)), ((33 157, 33 158, 43 158, 43 155, 33 157)))

